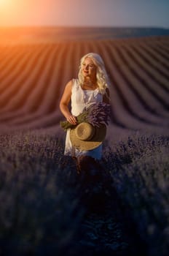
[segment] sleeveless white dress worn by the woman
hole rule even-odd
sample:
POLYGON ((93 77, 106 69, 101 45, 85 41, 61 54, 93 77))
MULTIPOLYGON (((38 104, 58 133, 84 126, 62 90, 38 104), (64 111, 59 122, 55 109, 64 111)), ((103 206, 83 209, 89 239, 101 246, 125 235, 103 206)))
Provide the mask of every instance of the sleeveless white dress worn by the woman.
MULTIPOLYGON (((82 113, 82 110, 95 102, 102 102, 103 95, 98 89, 95 90, 83 90, 79 85, 78 79, 73 79, 72 90, 71 90, 71 113, 74 116, 78 116, 82 113)), ((97 148, 89 151, 82 151, 74 148, 70 140, 70 129, 66 133, 65 151, 66 156, 79 157, 79 156, 90 156, 95 159, 101 159, 102 144, 97 148)))

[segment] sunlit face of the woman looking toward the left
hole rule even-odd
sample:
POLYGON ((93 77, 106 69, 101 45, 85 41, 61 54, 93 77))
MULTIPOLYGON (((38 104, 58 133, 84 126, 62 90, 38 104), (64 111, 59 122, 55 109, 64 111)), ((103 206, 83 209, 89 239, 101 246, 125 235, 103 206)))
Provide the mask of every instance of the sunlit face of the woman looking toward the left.
POLYGON ((82 63, 82 75, 84 78, 95 78, 96 77, 96 69, 97 67, 93 63, 93 60, 90 58, 84 59, 82 63))

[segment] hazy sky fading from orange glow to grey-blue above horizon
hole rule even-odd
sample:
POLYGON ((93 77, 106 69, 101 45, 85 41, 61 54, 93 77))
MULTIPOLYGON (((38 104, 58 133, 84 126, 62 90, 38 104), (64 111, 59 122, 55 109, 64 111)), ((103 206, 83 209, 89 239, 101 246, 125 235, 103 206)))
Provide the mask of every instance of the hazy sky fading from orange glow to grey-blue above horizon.
POLYGON ((169 0, 0 0, 0 26, 169 29, 169 0))

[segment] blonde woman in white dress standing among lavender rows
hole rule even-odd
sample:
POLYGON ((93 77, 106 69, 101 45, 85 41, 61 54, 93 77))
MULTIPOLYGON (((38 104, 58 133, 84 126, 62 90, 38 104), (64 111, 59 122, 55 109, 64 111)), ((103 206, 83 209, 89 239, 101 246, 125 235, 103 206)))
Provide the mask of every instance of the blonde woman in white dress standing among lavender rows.
MULTIPOLYGON (((109 103, 109 79, 101 56, 88 53, 80 61, 78 79, 70 80, 66 84, 60 99, 60 110, 66 120, 76 126, 76 116, 96 102, 109 103), (69 102, 71 111, 68 108, 69 102)), ((88 151, 74 148, 70 140, 70 129, 67 130, 64 154, 76 158, 79 171, 84 159, 87 159, 87 163, 89 159, 101 159, 101 151, 102 145, 88 151)))

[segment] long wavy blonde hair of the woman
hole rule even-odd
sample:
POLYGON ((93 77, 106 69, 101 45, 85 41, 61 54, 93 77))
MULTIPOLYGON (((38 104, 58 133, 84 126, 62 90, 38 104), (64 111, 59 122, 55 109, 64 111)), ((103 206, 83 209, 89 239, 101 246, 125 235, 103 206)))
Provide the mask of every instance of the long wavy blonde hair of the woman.
POLYGON ((97 67, 96 79, 97 79, 98 89, 101 92, 101 94, 106 94, 106 88, 109 88, 110 82, 109 82, 109 78, 106 72, 103 59, 101 58, 100 55, 98 55, 98 53, 87 53, 80 60, 79 73, 78 73, 79 83, 81 85, 84 83, 84 76, 82 75, 82 64, 84 63, 84 60, 86 58, 92 59, 93 63, 97 67))

